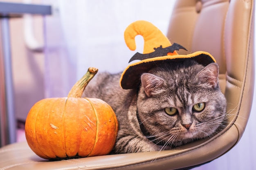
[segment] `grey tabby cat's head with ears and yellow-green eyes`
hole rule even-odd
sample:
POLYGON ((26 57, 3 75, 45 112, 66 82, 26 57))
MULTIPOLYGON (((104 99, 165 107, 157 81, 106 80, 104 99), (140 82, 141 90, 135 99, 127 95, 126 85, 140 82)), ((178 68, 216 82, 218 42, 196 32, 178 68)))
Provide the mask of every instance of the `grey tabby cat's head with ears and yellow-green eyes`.
POLYGON ((168 67, 141 76, 137 109, 150 139, 180 146, 212 135, 226 113, 218 65, 190 62, 168 67))

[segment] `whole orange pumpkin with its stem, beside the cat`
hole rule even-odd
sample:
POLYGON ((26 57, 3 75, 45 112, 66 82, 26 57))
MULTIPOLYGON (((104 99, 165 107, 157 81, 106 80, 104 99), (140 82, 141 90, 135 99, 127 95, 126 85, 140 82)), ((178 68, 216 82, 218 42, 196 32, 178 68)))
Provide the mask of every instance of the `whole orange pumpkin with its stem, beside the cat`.
POLYGON ((67 97, 43 99, 31 108, 25 135, 36 155, 44 159, 91 157, 112 150, 118 130, 114 111, 101 99, 81 98, 97 71, 89 68, 67 97))

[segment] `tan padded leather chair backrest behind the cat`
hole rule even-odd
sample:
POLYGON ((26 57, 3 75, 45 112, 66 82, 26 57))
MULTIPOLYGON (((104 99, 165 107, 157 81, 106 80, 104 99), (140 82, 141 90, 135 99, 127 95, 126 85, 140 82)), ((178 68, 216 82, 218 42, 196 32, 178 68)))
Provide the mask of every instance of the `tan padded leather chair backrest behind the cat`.
POLYGON ((178 0, 167 37, 189 52, 207 51, 216 58, 230 115, 224 131, 236 129, 237 143, 252 106, 254 0, 178 0))

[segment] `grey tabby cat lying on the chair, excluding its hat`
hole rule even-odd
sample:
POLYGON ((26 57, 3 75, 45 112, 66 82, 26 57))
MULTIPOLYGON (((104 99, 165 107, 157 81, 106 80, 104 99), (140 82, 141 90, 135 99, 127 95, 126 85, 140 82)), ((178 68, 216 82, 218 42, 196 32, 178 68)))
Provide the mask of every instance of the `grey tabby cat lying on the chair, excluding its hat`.
POLYGON ((225 119, 227 101, 219 67, 193 59, 165 62, 141 74, 137 89, 119 86, 121 73, 98 73, 83 96, 102 99, 115 111, 115 153, 167 150, 211 137, 225 119))

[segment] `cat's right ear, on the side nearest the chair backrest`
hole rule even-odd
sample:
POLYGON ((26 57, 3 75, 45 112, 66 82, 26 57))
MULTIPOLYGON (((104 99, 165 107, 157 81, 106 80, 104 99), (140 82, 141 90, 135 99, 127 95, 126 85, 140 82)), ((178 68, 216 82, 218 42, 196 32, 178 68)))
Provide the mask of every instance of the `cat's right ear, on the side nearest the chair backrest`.
POLYGON ((216 63, 208 64, 197 75, 200 82, 216 88, 218 85, 219 66, 216 63))

